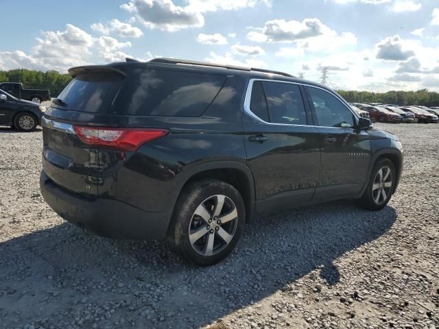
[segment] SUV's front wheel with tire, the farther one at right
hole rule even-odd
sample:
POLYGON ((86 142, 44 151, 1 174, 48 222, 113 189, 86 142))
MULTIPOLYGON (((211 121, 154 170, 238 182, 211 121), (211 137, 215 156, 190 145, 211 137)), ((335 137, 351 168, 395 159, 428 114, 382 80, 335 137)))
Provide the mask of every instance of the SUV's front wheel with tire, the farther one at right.
POLYGON ((395 167, 388 158, 379 159, 373 166, 368 186, 357 200, 361 208, 381 210, 387 206, 396 184, 395 167))

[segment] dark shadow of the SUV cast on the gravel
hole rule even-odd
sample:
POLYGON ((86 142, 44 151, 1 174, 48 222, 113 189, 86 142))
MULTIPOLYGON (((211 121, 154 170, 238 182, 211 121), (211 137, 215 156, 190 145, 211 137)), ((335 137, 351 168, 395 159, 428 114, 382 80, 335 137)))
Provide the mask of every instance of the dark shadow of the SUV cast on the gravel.
POLYGON ((47 325, 38 321, 57 316, 71 324, 99 306, 115 311, 111 320, 95 315, 98 328, 115 321, 117 328, 198 328, 280 290, 296 298, 297 280, 311 272, 316 284, 336 284, 337 258, 396 219, 390 206, 368 212, 352 202, 265 216, 211 267, 182 263, 164 242, 86 236, 62 223, 0 243, 0 318, 6 326, 47 325))

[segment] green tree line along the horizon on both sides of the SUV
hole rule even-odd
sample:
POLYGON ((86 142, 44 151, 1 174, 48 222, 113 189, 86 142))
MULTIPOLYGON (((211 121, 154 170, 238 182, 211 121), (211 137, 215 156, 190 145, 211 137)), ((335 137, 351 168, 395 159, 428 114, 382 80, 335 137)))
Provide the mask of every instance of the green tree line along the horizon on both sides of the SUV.
MULTIPOLYGON (((35 71, 16 69, 0 71, 0 82, 21 82, 25 88, 49 89, 51 96, 56 97, 69 84, 71 76, 58 71, 35 71)), ((370 93, 357 90, 337 90, 349 102, 385 103, 422 106, 439 106, 439 93, 427 89, 417 91, 388 91, 387 93, 370 93)))

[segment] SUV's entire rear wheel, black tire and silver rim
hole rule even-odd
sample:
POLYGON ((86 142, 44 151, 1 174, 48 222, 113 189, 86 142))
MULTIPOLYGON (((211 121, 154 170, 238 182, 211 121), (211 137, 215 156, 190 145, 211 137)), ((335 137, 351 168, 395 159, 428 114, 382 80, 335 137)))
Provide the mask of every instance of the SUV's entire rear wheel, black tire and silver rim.
POLYGON ((178 197, 170 238, 187 262, 213 265, 235 248, 245 218, 246 207, 235 187, 219 180, 193 182, 178 197))

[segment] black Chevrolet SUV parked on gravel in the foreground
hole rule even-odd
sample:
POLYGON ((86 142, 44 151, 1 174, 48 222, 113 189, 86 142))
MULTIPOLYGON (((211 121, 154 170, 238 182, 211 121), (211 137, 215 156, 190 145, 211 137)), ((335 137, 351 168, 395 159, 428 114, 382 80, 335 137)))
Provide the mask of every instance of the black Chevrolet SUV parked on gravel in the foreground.
POLYGON ((80 66, 43 119, 46 202, 86 232, 168 238, 216 263, 261 212, 335 199, 379 210, 398 139, 326 86, 158 58, 80 66))

